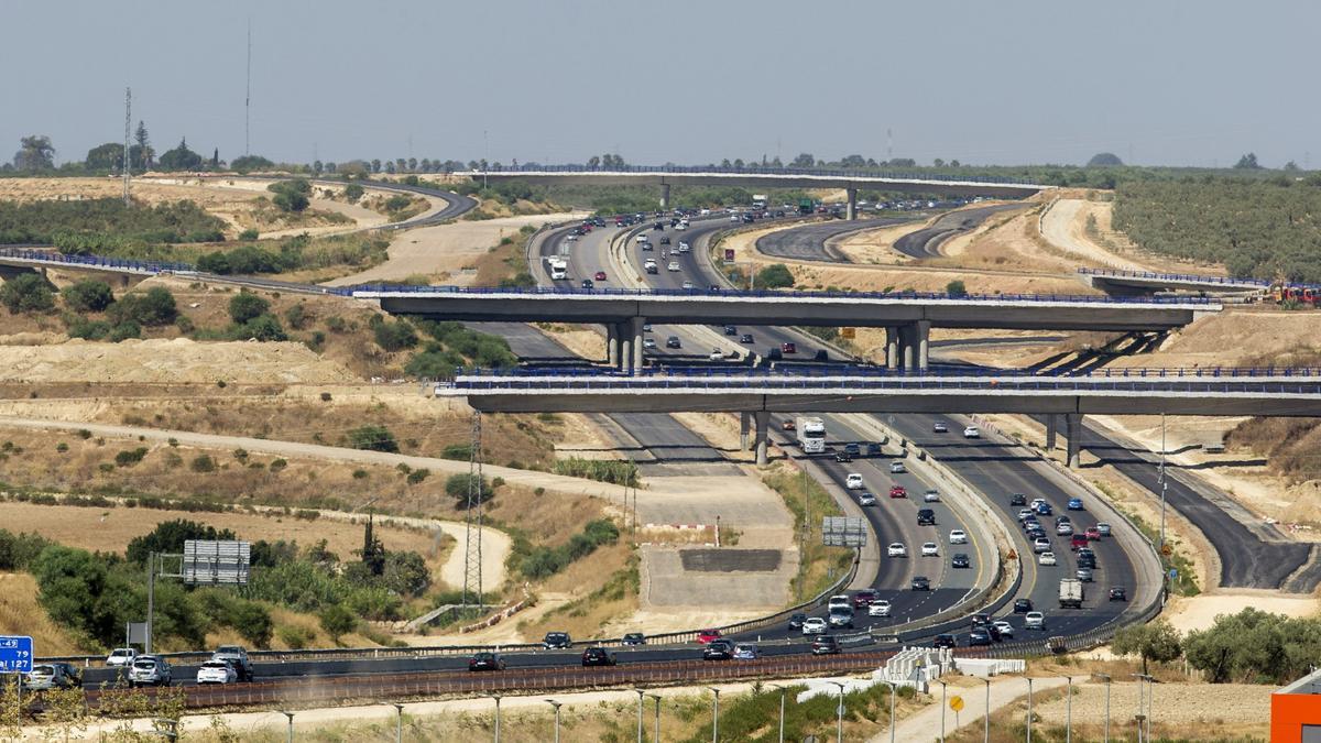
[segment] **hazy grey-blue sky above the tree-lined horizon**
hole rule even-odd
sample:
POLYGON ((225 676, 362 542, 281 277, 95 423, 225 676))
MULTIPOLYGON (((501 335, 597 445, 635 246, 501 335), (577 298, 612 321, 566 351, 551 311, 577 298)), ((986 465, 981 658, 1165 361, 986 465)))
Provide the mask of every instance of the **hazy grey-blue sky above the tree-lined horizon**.
POLYGON ((0 159, 1321 165, 1321 3, 0 0, 0 159), (410 145, 411 143, 411 145, 410 145), (1313 160, 1314 159, 1314 160, 1313 160))

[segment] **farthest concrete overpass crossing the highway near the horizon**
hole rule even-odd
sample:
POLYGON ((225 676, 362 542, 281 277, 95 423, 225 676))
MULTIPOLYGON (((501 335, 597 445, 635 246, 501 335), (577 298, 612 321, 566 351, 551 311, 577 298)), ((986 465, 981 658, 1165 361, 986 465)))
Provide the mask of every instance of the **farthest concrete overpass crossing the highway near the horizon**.
POLYGON ((845 214, 848 219, 857 218, 857 190, 864 188, 900 193, 985 196, 993 198, 1024 198, 1048 188, 1054 188, 979 176, 680 165, 633 165, 616 171, 590 169, 584 165, 544 165, 501 171, 472 171, 468 175, 474 180, 482 178, 483 181, 497 182, 526 181, 564 185, 659 186, 662 209, 670 208, 670 186, 672 185, 843 189, 848 196, 845 214))

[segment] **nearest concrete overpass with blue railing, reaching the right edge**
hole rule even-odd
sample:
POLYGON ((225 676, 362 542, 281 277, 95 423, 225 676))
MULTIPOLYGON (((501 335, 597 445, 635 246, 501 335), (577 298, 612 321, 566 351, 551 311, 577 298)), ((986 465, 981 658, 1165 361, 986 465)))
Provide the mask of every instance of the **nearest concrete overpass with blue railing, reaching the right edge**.
POLYGON ((1059 416, 1070 465, 1078 464, 1082 418, 1104 415, 1321 416, 1321 369, 1118 369, 1046 377, 894 374, 848 369, 823 375, 720 369, 662 372, 460 374, 435 387, 483 412, 740 412, 756 426, 757 461, 768 457, 771 412, 1016 412, 1059 416))

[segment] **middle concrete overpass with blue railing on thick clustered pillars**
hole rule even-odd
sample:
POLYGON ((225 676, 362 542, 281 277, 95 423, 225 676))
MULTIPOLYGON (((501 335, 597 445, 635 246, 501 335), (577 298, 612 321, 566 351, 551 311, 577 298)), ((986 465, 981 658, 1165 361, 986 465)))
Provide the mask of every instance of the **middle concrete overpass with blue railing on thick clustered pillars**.
POLYGON ((922 292, 781 292, 740 290, 576 290, 355 287, 353 296, 382 309, 444 320, 600 323, 610 329, 612 358, 641 369, 642 327, 822 325, 886 328, 893 369, 930 366, 931 328, 1017 331, 1166 331, 1221 305, 1202 297, 1070 295, 946 295, 922 292))

